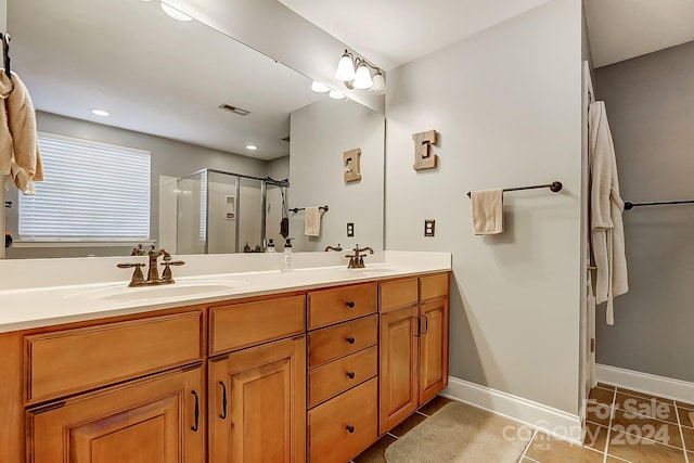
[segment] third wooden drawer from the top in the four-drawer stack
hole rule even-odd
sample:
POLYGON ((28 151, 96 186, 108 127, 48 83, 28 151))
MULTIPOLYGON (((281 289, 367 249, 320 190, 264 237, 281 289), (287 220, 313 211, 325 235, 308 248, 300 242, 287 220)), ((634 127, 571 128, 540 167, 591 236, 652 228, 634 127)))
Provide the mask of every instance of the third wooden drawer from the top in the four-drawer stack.
POLYGON ((309 408, 374 377, 378 374, 377 360, 373 346, 309 371, 309 408))

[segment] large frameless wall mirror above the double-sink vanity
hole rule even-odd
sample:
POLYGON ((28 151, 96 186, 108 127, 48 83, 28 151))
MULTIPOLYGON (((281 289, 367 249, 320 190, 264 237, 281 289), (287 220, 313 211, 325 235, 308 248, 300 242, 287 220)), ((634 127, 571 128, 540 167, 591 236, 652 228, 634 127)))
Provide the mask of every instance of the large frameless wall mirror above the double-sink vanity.
MULTIPOLYGON (((383 248, 383 115, 313 92, 308 77, 252 43, 195 20, 177 21, 163 7, 157 0, 8 0, 12 70, 31 94, 39 133, 150 153, 145 248, 243 252, 246 242, 262 249, 265 235, 281 249, 283 203, 299 209, 287 210, 295 250, 383 248), (361 150, 362 178, 347 182, 343 153, 354 149, 361 150), (209 172, 206 180, 201 171, 209 172), (288 179, 290 187, 267 178, 288 179), (319 236, 307 236, 301 209, 325 205, 319 236), (355 236, 347 236, 347 223, 355 236)), ((20 233, 20 196, 15 189, 5 193, 14 237, 8 258, 129 255, 137 244, 28 242, 20 233)))

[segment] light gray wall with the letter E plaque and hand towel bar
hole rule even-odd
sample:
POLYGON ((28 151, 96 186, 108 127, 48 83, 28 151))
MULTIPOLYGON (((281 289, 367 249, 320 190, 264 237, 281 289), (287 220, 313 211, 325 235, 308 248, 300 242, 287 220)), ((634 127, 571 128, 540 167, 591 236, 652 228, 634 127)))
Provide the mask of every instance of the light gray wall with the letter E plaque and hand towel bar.
POLYGON ((386 115, 386 246, 452 252, 451 375, 578 414, 580 0, 390 70, 386 115), (428 129, 439 167, 415 172, 428 129), (467 191, 553 180, 505 194, 503 234, 472 234, 467 191))

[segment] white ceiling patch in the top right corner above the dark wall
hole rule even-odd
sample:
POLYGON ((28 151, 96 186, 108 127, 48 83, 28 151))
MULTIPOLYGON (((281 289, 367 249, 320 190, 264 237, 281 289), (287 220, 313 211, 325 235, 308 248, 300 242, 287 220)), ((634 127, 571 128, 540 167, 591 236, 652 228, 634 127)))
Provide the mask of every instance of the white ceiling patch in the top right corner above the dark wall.
POLYGON ((694 40, 694 0, 583 0, 595 67, 694 40))

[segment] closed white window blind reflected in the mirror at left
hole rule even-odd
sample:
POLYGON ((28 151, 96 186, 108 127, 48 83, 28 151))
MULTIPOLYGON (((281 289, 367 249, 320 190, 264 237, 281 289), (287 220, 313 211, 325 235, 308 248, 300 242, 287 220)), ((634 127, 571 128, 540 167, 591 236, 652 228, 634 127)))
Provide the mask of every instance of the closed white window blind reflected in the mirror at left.
POLYGON ((46 180, 20 195, 21 241, 150 237, 150 153, 39 132, 46 180))

